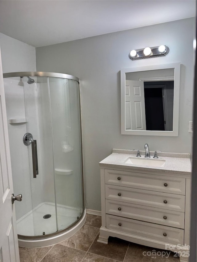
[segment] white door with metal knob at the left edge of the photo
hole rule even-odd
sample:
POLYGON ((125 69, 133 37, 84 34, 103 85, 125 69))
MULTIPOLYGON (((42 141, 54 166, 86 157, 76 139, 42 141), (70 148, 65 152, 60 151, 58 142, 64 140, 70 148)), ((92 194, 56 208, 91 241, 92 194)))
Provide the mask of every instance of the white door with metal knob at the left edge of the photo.
MULTIPOLYGON (((20 262, 0 52, 0 262, 20 262)), ((18 193, 18 192, 17 192, 18 193)))

